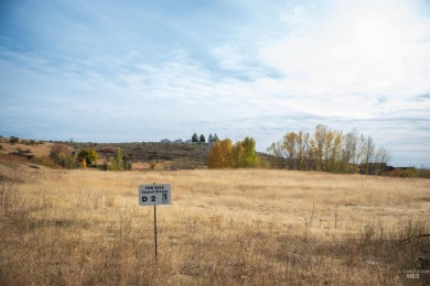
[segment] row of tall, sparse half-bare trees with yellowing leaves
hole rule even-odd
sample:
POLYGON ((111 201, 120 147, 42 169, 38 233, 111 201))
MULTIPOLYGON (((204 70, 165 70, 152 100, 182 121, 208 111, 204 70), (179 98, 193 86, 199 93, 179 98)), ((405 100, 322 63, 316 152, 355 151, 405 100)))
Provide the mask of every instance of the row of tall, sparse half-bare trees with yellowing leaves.
POLYGON ((343 133, 324 124, 316 125, 313 134, 287 132, 267 152, 272 167, 331 173, 355 173, 362 164, 363 172, 369 174, 373 164, 385 166, 390 160, 388 150, 377 148, 374 140, 357 129, 343 133))

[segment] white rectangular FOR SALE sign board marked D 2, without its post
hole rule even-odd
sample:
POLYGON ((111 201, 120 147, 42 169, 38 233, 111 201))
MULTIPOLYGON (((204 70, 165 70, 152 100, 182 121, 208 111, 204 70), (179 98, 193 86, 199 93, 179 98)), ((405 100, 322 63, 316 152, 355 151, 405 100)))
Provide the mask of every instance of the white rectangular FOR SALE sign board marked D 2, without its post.
POLYGON ((140 206, 157 206, 170 205, 172 201, 172 193, 170 184, 154 184, 139 186, 139 205, 140 206))

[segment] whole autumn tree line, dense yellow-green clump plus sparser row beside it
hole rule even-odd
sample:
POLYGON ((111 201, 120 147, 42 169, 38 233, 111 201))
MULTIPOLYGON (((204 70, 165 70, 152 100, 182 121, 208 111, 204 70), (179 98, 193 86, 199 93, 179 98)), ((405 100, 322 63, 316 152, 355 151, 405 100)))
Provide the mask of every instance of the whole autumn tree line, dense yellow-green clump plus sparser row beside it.
POLYGON ((377 147, 372 136, 361 134, 357 129, 343 133, 324 124, 316 125, 313 133, 287 132, 280 141, 271 143, 267 153, 268 160, 258 157, 252 138, 235 144, 229 139, 218 140, 211 148, 207 167, 383 174, 390 160, 388 150, 377 147))

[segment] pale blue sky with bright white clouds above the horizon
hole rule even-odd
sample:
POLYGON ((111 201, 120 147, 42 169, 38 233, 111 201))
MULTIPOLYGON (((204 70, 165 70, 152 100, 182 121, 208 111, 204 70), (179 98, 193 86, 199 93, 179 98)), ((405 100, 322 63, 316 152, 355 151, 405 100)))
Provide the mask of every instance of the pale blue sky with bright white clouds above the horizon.
POLYGON ((1 0, 0 135, 265 151, 318 124, 430 167, 429 0, 1 0))

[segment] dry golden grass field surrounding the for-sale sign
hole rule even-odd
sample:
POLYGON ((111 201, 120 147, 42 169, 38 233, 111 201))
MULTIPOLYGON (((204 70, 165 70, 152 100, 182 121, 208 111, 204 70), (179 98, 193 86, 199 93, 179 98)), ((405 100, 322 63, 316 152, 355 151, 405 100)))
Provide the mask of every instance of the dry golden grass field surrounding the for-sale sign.
POLYGON ((429 221, 428 179, 0 162, 0 285, 429 285, 429 221))

